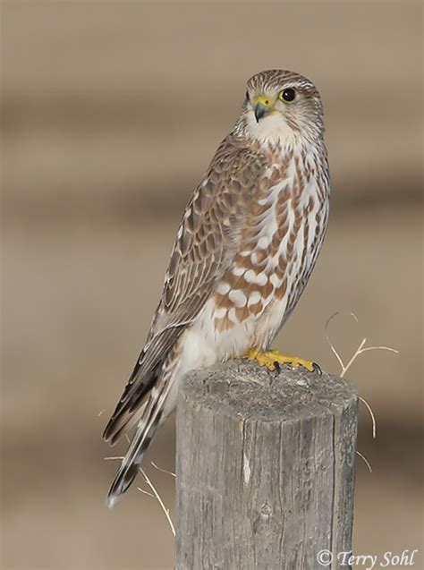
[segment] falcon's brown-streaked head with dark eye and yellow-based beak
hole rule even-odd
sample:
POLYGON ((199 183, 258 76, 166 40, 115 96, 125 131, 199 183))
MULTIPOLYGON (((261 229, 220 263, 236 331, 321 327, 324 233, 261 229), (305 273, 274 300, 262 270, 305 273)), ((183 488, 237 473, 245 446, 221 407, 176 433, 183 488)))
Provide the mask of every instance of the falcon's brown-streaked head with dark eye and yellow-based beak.
POLYGON ((324 132, 321 98, 315 85, 298 73, 259 72, 247 82, 238 124, 245 136, 259 142, 316 140, 324 132))

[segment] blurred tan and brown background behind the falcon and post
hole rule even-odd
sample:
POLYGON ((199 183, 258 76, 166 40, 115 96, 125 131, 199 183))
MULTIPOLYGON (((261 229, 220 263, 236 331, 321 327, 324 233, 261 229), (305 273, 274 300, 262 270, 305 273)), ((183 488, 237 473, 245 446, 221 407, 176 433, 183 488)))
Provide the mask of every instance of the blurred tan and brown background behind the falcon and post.
MULTIPOLYGON (((340 368, 360 410, 354 551, 421 549, 420 4, 3 2, 2 568, 171 568, 157 502, 104 498, 101 440, 163 283, 174 233, 245 81, 316 82, 333 208, 276 346, 340 368)), ((174 421, 148 459, 174 470, 174 421)), ((148 463, 147 463, 148 465, 148 463)), ((174 513, 174 479, 148 466, 174 513)), ((140 481, 141 484, 142 481, 140 481)), ((416 568, 424 567, 422 554, 416 568)), ((274 570, 274 569, 273 569, 274 570)))

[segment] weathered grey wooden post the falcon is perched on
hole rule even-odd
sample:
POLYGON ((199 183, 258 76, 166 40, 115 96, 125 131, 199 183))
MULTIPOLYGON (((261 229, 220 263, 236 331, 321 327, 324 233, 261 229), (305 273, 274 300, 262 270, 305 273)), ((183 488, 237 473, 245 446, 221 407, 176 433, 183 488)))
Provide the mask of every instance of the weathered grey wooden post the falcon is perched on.
POLYGON ((241 360, 191 372, 177 407, 176 570, 341 568, 356 434, 356 390, 325 372, 241 360))

